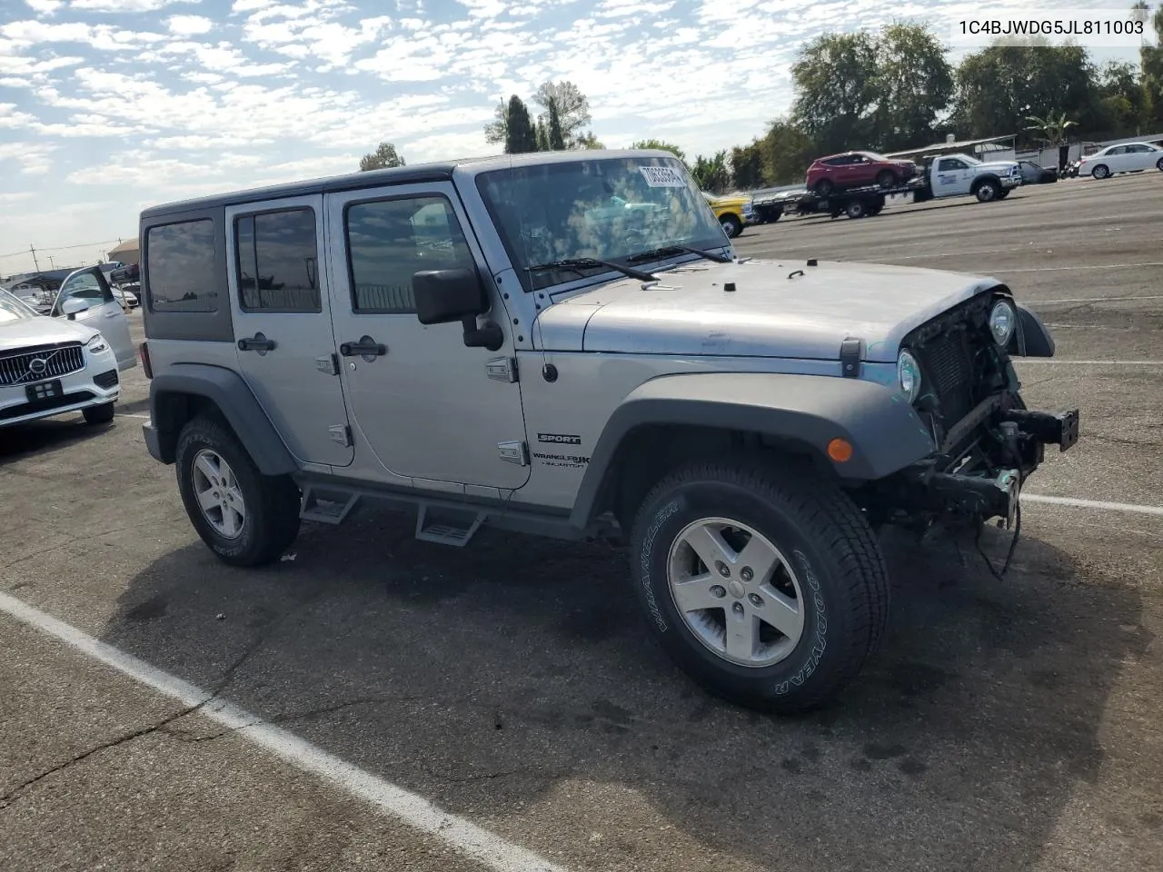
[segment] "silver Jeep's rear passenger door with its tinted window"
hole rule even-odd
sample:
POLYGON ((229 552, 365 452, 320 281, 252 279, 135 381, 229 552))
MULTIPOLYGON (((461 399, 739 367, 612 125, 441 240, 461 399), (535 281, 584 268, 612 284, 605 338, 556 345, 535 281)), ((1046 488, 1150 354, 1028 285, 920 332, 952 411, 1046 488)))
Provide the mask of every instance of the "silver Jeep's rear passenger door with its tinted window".
POLYGON ((340 384, 322 195, 227 208, 238 371, 291 453, 347 466, 354 451, 340 384))

